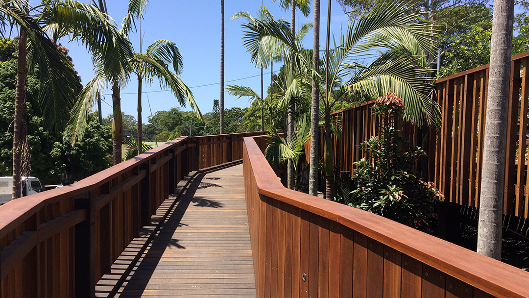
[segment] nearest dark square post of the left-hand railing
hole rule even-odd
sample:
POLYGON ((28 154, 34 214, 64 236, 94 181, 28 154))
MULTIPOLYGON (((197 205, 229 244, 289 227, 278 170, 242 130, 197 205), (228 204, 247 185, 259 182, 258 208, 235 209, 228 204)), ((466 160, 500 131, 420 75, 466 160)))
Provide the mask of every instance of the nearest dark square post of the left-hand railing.
POLYGON ((95 193, 88 198, 76 198, 76 209, 86 209, 87 218, 75 226, 75 296, 96 295, 95 193))

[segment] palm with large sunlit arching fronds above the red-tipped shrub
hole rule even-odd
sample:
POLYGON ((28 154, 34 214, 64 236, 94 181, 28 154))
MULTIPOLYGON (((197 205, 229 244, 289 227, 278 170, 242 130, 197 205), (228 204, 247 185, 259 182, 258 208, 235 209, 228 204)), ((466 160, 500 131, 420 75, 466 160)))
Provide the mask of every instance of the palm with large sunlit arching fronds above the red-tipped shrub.
MULTIPOLYGON (((343 96, 354 93, 367 94, 376 98, 388 92, 404 98, 406 106, 405 120, 413 124, 437 125, 439 107, 427 94, 432 90, 431 70, 425 68, 425 50, 434 50, 431 24, 419 21, 421 15, 398 4, 376 5, 369 14, 349 23, 346 32, 341 35, 340 43, 334 44, 330 51, 329 63, 324 65, 329 72, 329 94, 322 96, 325 114, 324 156, 332 158, 330 132, 332 125, 330 112, 334 104, 343 96), (374 50, 378 50, 373 54, 374 50), (362 65, 358 57, 374 58, 370 64, 362 65), (352 75, 352 76, 351 76, 352 75), (344 80, 345 79, 345 80, 344 80), (338 89, 334 86, 340 86, 338 89), (325 133, 327 132, 327 133, 325 133)), ((264 26, 267 33, 281 40, 290 51, 298 55, 305 65, 307 59, 300 55, 297 43, 293 42, 281 28, 274 24, 264 26)), ((312 70, 313 76, 319 76, 312 70)), ((331 182, 332 162, 325 165, 326 184, 331 182), (329 165, 330 164, 330 165, 329 165)), ((332 189, 332 185, 326 185, 332 189)), ((327 197, 331 193, 326 194, 327 197)))

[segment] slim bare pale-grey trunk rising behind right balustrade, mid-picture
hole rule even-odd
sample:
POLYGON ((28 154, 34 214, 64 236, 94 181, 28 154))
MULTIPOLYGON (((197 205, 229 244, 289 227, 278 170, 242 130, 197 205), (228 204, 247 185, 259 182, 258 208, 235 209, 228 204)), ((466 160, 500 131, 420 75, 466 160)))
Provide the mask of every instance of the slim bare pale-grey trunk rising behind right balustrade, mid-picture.
MULTIPOLYGON (((327 33, 329 35, 329 33, 327 33)), ((328 40, 328 38, 327 38, 328 40)), ((314 0, 314 29, 312 38, 312 67, 320 69, 320 0, 314 0)), ((320 162, 320 86, 312 79, 311 156, 308 173, 308 193, 318 195, 318 163, 320 162)))

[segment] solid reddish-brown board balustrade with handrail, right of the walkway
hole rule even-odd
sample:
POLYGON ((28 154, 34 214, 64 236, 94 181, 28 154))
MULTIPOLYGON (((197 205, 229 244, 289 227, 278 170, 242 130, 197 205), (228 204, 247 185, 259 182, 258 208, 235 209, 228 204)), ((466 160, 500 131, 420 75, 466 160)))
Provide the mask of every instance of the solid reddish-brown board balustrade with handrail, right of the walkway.
POLYGON ((524 270, 285 188, 263 139, 245 138, 243 158, 258 298, 529 296, 524 270))

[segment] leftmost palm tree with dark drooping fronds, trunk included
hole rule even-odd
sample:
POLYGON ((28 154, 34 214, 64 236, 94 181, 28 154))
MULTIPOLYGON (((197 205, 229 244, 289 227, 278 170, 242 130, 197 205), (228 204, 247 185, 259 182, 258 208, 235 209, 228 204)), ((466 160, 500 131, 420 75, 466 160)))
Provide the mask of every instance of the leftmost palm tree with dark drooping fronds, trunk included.
MULTIPOLYGON (((72 65, 52 42, 52 39, 58 40, 57 34, 50 38, 46 31, 66 32, 71 39, 81 40, 98 59, 110 59, 111 56, 117 61, 126 59, 111 51, 114 47, 123 46, 127 41, 118 34, 115 26, 108 22, 105 15, 97 8, 76 1, 46 2, 30 7, 24 0, 2 0, 0 14, 3 16, 2 28, 0 28, 2 35, 13 26, 20 28, 14 112, 12 194, 13 198, 18 198, 21 196, 23 151, 28 152, 24 159, 29 161, 24 114, 28 71, 39 71, 38 102, 47 129, 59 131, 65 127, 75 98, 73 86, 78 83, 72 65)), ((29 170, 28 167, 26 169, 29 170)))

